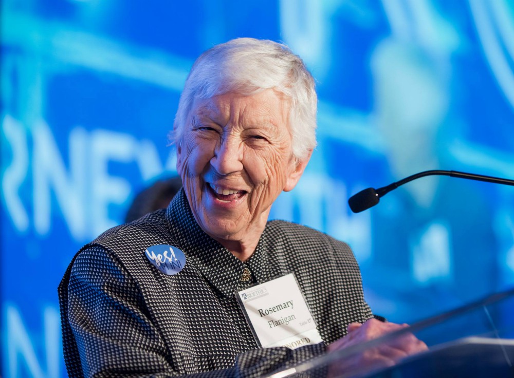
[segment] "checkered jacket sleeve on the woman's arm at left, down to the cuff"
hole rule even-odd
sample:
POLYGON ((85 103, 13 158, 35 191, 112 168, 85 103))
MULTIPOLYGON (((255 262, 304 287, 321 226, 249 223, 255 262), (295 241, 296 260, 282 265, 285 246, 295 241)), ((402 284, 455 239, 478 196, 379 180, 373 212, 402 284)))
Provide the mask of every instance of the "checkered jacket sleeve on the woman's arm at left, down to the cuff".
MULTIPOLYGON (((74 258, 59 286, 63 352, 75 377, 258 377, 325 351, 324 344, 296 350, 270 348, 234 356, 234 366, 195 372, 168 353, 152 324, 141 288, 122 263, 98 245, 74 258)), ((185 353, 187 353, 185 351, 185 353)))

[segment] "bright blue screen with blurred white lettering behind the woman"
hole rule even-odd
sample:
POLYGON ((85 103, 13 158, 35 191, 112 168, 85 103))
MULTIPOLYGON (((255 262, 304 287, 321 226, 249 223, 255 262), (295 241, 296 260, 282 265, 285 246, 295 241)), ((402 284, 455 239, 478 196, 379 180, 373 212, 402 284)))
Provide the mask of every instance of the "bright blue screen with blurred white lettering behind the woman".
POLYGON ((176 174, 167 133, 186 75, 241 36, 286 43, 317 80, 318 147, 271 218, 350 243, 393 322, 512 286, 513 187, 428 177, 363 213, 346 204, 428 169, 514 178, 512 2, 4 0, 3 376, 66 376, 69 261, 176 174))

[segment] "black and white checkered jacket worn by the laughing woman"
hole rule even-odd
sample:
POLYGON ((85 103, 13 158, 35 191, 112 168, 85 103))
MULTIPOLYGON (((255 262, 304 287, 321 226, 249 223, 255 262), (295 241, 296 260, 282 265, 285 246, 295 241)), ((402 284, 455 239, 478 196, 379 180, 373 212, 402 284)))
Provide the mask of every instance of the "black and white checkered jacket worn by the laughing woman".
POLYGON ((329 344, 373 315, 350 248, 284 221, 268 222, 242 262, 205 234, 181 191, 166 211, 111 229, 71 261, 59 286, 70 377, 257 377, 325 351, 325 344, 259 349, 235 292, 294 273, 329 344), (145 250, 170 244, 187 258, 165 275, 145 250), (242 281, 244 269, 251 279, 242 281))

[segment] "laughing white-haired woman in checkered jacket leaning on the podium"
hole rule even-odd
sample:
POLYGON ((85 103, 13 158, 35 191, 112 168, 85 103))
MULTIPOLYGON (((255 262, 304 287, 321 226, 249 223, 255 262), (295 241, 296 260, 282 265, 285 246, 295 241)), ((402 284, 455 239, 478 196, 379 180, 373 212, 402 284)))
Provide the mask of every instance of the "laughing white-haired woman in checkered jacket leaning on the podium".
MULTIPOLYGON (((295 187, 316 145, 316 103, 313 78, 284 45, 237 39, 198 58, 172 133, 183 190, 168 209, 86 245, 61 282, 70 377, 261 376, 327 346, 343 348, 402 327, 372 319, 346 244, 268 221, 273 201, 295 187), (289 274, 292 284, 273 284, 289 274), (258 284, 269 285, 248 291, 258 284), (276 306, 260 295, 258 318, 295 306, 298 313, 267 319, 269 330, 259 330, 259 319, 241 301, 258 292, 300 298, 276 306), (300 311, 308 317, 302 324, 315 325, 310 336, 275 345, 307 345, 264 345, 291 332, 300 311), (348 331, 352 337, 341 338, 348 331)), ((423 349, 407 339, 377 351, 373 362, 390 365, 423 349)), ((360 357, 355 366, 369 362, 369 355, 360 357)), ((346 364, 345 372, 355 366, 346 364)))

